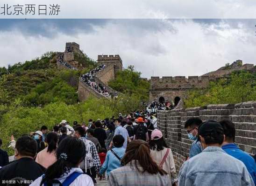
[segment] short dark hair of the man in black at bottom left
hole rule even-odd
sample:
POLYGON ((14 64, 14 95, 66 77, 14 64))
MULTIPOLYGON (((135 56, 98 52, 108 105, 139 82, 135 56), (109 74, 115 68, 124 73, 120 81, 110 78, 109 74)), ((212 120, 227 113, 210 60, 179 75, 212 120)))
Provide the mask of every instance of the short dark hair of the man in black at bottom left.
POLYGON ((37 143, 36 140, 30 136, 22 135, 16 141, 15 148, 22 156, 30 156, 34 158, 37 152, 37 143))

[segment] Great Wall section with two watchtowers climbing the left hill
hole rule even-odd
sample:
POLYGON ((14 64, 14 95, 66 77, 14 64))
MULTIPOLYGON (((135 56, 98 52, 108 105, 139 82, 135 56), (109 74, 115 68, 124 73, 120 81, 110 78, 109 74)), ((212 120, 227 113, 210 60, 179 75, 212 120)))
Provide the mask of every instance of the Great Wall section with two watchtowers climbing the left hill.
MULTIPOLYGON (((58 69, 71 69, 82 70, 82 65, 74 59, 74 55, 84 55, 79 48, 79 45, 75 42, 66 43, 65 52, 57 52, 57 68, 58 69)), ((107 92, 110 95, 118 95, 119 93, 107 86, 110 80, 114 80, 116 73, 122 70, 122 60, 119 55, 98 55, 98 64, 105 64, 106 67, 97 72, 94 80, 98 85, 106 87, 107 92)), ((85 82, 79 79, 78 84, 78 99, 86 100, 90 95, 94 95, 97 98, 106 98, 103 94, 95 91, 85 82)))

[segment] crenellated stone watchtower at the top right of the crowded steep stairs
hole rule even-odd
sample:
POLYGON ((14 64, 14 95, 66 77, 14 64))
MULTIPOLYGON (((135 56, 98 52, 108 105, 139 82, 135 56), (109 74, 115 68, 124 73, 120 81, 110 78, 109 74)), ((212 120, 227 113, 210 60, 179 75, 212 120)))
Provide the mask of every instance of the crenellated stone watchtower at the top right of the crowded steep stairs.
POLYGON ((112 66, 114 68, 114 77, 119 70, 122 70, 123 64, 119 55, 98 55, 98 63, 112 66))

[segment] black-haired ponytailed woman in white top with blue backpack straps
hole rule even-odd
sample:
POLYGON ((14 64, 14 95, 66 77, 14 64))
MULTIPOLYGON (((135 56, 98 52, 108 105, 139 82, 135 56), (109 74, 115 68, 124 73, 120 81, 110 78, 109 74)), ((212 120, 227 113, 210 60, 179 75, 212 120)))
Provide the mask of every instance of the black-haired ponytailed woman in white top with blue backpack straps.
POLYGON ((85 159, 85 144, 81 140, 65 138, 57 147, 56 155, 57 161, 30 186, 94 186, 92 179, 78 168, 85 159))

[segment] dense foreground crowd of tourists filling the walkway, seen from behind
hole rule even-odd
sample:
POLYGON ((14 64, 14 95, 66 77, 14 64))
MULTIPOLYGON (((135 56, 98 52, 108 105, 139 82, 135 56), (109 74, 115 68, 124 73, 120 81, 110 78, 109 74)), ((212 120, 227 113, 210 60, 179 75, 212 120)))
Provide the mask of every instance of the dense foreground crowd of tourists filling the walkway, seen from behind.
POLYGON ((255 159, 235 145, 233 122, 194 117, 184 129, 193 142, 178 175, 156 114, 133 112, 81 124, 62 120, 51 132, 42 126, 17 140, 12 136, 13 158, 0 150, 0 182, 94 186, 107 179, 108 186, 255 186, 255 159))

